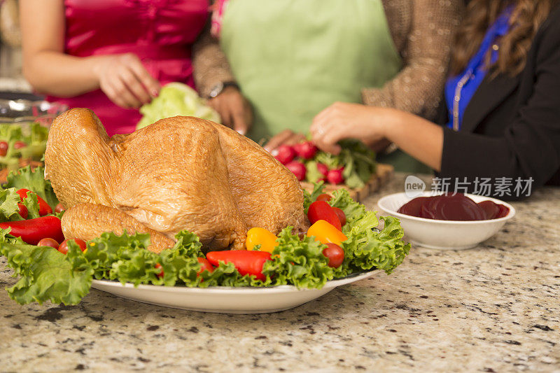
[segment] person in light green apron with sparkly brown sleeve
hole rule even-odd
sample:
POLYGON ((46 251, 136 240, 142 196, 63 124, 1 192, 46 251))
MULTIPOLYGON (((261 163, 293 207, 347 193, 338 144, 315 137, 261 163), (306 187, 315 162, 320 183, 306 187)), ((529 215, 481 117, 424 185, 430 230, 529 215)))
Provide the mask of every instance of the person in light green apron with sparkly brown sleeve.
MULTIPOLYGON (((219 28, 233 76, 253 107, 247 136, 268 141, 271 151, 300 141, 314 116, 336 101, 430 117, 462 3, 217 1, 214 34, 219 28)), ((386 145, 379 142, 377 150, 386 145)), ((399 158, 405 159, 387 162, 427 170, 404 153, 399 158)))

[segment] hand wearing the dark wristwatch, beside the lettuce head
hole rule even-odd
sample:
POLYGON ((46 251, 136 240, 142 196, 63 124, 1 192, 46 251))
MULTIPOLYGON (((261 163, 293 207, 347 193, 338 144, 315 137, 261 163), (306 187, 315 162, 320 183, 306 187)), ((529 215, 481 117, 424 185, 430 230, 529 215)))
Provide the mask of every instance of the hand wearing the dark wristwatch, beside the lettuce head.
POLYGON ((236 87, 226 87, 218 96, 208 100, 222 118, 222 124, 245 135, 253 123, 251 104, 236 87))

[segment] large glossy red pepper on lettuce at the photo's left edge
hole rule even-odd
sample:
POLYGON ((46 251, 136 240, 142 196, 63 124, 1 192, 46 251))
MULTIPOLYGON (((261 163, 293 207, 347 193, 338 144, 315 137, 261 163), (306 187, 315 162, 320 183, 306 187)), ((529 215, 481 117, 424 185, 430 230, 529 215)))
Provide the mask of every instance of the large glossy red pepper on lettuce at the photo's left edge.
POLYGON ((56 216, 41 216, 31 220, 9 221, 0 223, 0 228, 11 228, 10 234, 21 237, 24 242, 31 245, 38 244, 41 239, 50 238, 57 242, 64 241, 64 234, 60 227, 60 219, 56 216))

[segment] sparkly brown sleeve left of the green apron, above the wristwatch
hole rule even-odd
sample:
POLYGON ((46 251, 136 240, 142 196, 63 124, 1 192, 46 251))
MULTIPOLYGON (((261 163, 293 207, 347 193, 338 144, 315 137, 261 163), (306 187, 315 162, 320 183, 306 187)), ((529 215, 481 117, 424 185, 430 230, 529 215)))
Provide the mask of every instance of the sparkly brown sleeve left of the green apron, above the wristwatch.
POLYGON ((193 76, 202 97, 207 97, 216 84, 235 80, 220 43, 210 34, 209 24, 193 47, 193 76))

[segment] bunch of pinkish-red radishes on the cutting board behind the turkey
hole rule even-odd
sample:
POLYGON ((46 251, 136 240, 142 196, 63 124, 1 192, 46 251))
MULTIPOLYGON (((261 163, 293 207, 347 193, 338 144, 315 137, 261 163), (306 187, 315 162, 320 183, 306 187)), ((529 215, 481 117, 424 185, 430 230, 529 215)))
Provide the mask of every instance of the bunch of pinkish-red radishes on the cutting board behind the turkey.
MULTIPOLYGON (((277 153, 274 157, 281 164, 286 166, 287 169, 292 171, 297 180, 304 181, 305 175, 307 174, 307 168, 305 167, 304 161, 312 160, 317 154, 317 151, 318 149, 312 141, 304 141, 293 146, 279 146, 276 149, 277 153)), ((317 163, 317 169, 323 175, 323 178, 318 181, 325 181, 331 184, 344 183, 344 177, 342 176, 344 167, 328 169, 325 164, 317 163)))

